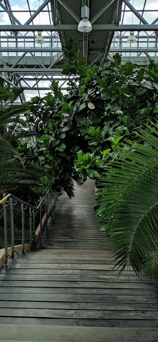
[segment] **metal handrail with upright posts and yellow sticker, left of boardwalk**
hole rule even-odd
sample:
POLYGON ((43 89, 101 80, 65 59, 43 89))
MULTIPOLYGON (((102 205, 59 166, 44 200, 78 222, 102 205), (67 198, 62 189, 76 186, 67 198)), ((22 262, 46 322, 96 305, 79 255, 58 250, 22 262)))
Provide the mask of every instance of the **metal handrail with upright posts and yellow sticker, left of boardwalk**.
POLYGON ((7 206, 10 205, 10 223, 11 223, 11 253, 12 259, 14 259, 14 219, 13 219, 13 199, 16 202, 21 203, 21 210, 22 210, 22 252, 24 253, 25 250, 25 212, 24 210, 29 208, 29 222, 30 222, 30 246, 32 244, 32 217, 33 217, 33 247, 35 247, 35 215, 40 209, 40 237, 42 234, 42 203, 46 199, 46 224, 48 220, 48 195, 50 190, 47 191, 46 195, 43 198, 40 198, 40 202, 37 207, 32 206, 31 204, 23 201, 22 199, 8 194, 7 196, 3 194, 3 199, 0 200, 0 204, 3 204, 3 211, 4 211, 4 249, 5 249, 5 266, 8 265, 8 238, 7 238, 7 206), (6 205, 7 200, 9 199, 9 203, 6 205), (26 206, 26 208, 24 208, 26 206), (35 213, 36 211, 36 213, 35 213))

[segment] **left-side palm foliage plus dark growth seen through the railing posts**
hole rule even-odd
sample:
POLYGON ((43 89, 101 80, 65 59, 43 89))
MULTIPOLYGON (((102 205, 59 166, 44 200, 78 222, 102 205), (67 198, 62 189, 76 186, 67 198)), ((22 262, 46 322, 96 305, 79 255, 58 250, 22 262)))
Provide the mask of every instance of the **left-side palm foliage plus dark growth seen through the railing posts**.
MULTIPOLYGON (((28 113, 28 104, 19 104, 17 101, 23 94, 24 88, 4 87, 0 79, 0 198, 2 194, 11 192, 17 197, 30 199, 30 190, 35 197, 37 181, 44 176, 43 170, 38 166, 25 166, 18 153, 24 141, 34 134, 26 121, 21 117, 28 113), (31 186, 35 186, 32 189, 31 186), (29 192, 28 192, 29 188, 29 192)), ((33 196, 32 196, 33 197, 33 196)), ((37 196, 36 196, 37 197, 37 196)), ((39 197, 39 194, 38 194, 39 197)), ((0 205, 0 211, 2 210, 0 205)), ((8 243, 10 245, 10 207, 7 206, 8 216, 8 243)), ((27 216, 28 222, 29 215, 27 216)), ((29 233, 25 227, 25 241, 29 233)), ((14 233, 15 245, 21 243, 21 205, 14 207, 14 233)), ((4 247, 4 220, 3 210, 0 212, 0 248, 4 247)))

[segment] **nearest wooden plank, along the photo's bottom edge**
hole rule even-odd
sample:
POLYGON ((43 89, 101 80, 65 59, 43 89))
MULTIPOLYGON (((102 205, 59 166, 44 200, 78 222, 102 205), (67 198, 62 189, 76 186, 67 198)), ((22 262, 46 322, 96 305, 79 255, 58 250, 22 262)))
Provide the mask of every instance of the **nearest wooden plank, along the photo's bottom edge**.
POLYGON ((1 325, 1 342, 157 342, 157 329, 154 328, 102 328, 60 326, 1 325))

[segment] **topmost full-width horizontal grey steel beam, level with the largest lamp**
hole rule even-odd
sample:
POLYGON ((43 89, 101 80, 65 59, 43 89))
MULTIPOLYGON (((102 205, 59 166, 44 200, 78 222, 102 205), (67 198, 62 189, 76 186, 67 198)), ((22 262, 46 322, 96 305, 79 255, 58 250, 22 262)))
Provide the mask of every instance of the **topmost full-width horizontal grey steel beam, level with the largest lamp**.
MULTIPOLYGON (((77 31, 78 25, 0 25, 2 32, 28 32, 28 31, 77 31)), ((93 24, 93 31, 158 31, 158 25, 104 25, 93 24)))

